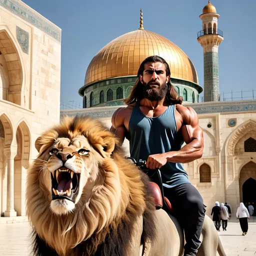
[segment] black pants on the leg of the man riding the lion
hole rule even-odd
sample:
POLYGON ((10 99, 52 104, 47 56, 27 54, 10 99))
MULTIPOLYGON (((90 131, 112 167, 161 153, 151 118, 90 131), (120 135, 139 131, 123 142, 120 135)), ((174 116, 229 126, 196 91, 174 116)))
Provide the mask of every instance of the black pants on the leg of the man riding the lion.
POLYGON ((184 255, 195 255, 200 245, 200 234, 204 219, 205 205, 196 188, 190 183, 175 187, 163 187, 166 196, 173 206, 175 216, 184 228, 186 244, 184 255))

